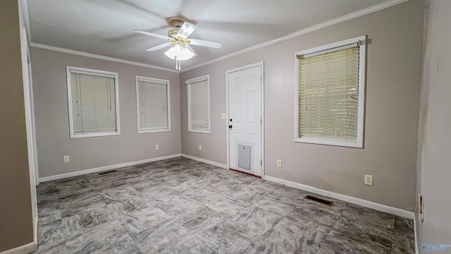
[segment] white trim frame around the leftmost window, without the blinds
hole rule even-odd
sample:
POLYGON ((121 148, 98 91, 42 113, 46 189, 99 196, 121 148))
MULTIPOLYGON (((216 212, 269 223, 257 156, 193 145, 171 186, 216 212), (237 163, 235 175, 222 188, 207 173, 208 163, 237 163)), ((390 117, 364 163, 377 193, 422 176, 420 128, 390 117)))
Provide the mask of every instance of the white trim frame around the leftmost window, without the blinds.
POLYGON ((66 78, 68 87, 68 106, 69 106, 69 130, 70 138, 92 138, 92 137, 103 137, 111 135, 121 135, 121 121, 119 117, 119 77, 118 73, 111 71, 99 71, 89 68, 80 68, 74 66, 66 66, 66 78), (70 73, 80 73, 88 75, 99 75, 103 77, 114 78, 114 90, 116 95, 116 128, 117 131, 114 133, 89 133, 89 134, 75 134, 73 128, 73 104, 72 104, 72 80, 70 79, 70 73))

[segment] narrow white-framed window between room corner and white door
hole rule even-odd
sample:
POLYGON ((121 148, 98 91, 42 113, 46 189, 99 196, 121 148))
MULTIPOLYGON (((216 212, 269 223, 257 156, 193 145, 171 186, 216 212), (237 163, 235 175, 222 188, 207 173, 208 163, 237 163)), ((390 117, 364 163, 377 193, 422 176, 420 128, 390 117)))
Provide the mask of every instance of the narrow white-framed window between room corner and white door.
POLYGON ((188 131, 210 133, 209 76, 187 80, 188 131))

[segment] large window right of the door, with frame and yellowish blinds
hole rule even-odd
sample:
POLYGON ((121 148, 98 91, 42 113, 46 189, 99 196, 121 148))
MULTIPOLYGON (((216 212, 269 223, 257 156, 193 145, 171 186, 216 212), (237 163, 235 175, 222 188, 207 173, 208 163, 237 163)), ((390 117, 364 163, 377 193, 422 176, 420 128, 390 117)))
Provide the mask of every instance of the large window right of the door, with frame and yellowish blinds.
POLYGON ((363 147, 365 42, 297 52, 296 142, 363 147))

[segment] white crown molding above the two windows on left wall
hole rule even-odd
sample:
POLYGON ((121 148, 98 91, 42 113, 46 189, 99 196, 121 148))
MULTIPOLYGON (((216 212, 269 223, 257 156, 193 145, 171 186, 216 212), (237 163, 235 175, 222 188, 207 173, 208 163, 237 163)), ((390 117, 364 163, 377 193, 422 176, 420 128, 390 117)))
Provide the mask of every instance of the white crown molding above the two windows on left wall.
POLYGON ((91 54, 91 53, 87 53, 87 52, 79 52, 76 50, 72 50, 72 49, 64 49, 61 47, 54 47, 54 46, 49 46, 46 44, 39 44, 36 42, 31 42, 30 43, 30 47, 35 47, 38 49, 47 49, 47 50, 51 50, 51 51, 55 51, 55 52, 62 52, 62 53, 67 53, 67 54, 73 54, 73 55, 77 55, 77 56, 86 56, 86 57, 91 57, 94 59, 101 59, 101 60, 105 60, 105 61, 113 61, 116 63, 125 63, 125 64, 130 64, 130 65, 134 65, 134 66, 141 66, 141 67, 146 67, 146 68, 153 68, 156 70, 161 70, 161 71, 170 71, 173 73, 180 73, 180 71, 171 69, 171 68, 164 68, 161 66, 154 66, 152 64, 147 64, 147 63, 138 63, 135 61, 128 61, 128 60, 124 60, 124 59, 117 59, 114 57, 110 57, 110 56, 101 56, 98 54, 91 54))

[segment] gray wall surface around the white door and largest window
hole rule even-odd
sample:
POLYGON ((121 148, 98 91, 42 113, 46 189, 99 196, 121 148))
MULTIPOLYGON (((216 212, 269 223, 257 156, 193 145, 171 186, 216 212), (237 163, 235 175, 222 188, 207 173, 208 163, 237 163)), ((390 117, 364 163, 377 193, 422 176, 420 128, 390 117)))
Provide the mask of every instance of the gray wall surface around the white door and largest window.
POLYGON ((226 162, 226 70, 264 61, 265 174, 414 210, 424 1, 211 63, 180 75, 182 152, 226 162), (364 149, 295 143, 295 52, 368 35, 364 149), (210 75, 211 134, 187 132, 185 80, 210 75), (203 150, 197 149, 202 145, 203 150), (276 159, 283 167, 276 167, 276 159), (374 186, 364 186, 364 174, 374 186))

